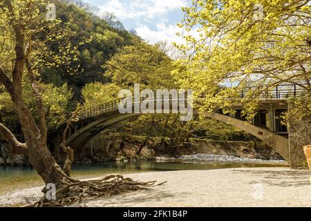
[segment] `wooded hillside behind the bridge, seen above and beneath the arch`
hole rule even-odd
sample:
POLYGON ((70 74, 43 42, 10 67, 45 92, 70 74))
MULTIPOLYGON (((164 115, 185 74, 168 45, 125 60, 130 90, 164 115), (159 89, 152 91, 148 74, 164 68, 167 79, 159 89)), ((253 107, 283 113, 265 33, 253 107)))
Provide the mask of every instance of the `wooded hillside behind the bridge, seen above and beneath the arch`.
MULTIPOLYGON (((88 107, 109 102, 117 98, 121 89, 131 89, 134 84, 140 84, 141 89, 178 88, 172 74, 176 67, 166 55, 165 44, 148 44, 135 32, 125 30, 113 14, 99 15, 97 8, 83 1, 52 2, 57 8, 57 20, 39 27, 31 36, 39 42, 33 46, 36 51, 32 61, 37 68, 35 77, 45 106, 51 151, 55 134, 62 134, 67 114, 77 105, 88 107)), ((44 11, 44 6, 41 9, 44 11)), ((4 39, 3 46, 6 46, 4 39)), ((1 56, 5 61, 3 67, 10 70, 11 55, 1 56)), ((39 122, 31 80, 25 78, 22 84, 26 104, 39 122)), ((111 128, 108 133, 167 137, 175 148, 189 142, 191 137, 247 140, 244 133, 234 128, 195 118, 183 123, 177 120, 177 115, 144 115, 111 128)), ((23 140, 15 106, 2 86, 0 121, 23 140)), ((146 142, 147 138, 143 143, 146 142)))

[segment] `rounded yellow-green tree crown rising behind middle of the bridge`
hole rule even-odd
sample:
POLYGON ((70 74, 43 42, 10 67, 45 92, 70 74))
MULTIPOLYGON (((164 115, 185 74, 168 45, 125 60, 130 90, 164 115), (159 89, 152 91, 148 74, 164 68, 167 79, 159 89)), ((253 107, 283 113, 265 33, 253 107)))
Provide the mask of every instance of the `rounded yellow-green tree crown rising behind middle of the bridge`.
POLYGON ((171 59, 158 46, 135 40, 125 46, 103 66, 105 76, 122 88, 141 84, 141 88, 175 88, 171 59))

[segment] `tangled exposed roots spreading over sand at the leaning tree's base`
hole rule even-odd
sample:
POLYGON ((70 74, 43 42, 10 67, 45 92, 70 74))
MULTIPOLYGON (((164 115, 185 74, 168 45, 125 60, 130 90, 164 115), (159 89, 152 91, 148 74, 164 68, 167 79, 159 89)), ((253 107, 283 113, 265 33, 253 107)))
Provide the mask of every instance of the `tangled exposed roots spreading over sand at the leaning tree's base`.
POLYGON ((166 182, 156 184, 152 182, 135 182, 131 178, 124 178, 122 175, 107 175, 100 180, 81 181, 68 184, 56 191, 56 200, 47 200, 46 196, 41 200, 29 204, 26 207, 49 207, 69 206, 78 204, 83 200, 93 200, 104 196, 129 193, 131 191, 148 190, 151 186, 159 186, 166 182))

